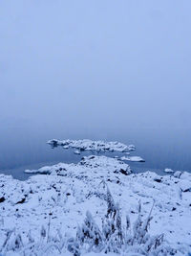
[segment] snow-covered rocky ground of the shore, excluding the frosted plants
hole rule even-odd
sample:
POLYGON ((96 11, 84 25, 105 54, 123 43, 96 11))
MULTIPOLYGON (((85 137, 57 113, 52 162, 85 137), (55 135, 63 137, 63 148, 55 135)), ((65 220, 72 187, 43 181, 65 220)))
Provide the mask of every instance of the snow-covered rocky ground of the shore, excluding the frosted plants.
MULTIPOLYGON (((191 251, 189 173, 135 175, 127 164, 106 156, 88 156, 78 164, 59 163, 26 172, 46 175, 33 175, 26 181, 0 175, 0 253, 3 255, 24 255, 20 248, 12 249, 15 236, 22 241, 22 246, 32 241, 44 243, 46 232, 53 237, 61 234, 64 239, 74 237, 87 211, 100 226, 107 211, 105 184, 119 203, 122 218, 128 214, 131 222, 138 218, 139 200, 143 219, 155 201, 151 235, 163 233, 164 243, 176 249, 175 255, 188 255, 191 251)), ((46 252, 45 255, 73 254, 64 248, 62 251, 55 248, 52 254, 46 252)))

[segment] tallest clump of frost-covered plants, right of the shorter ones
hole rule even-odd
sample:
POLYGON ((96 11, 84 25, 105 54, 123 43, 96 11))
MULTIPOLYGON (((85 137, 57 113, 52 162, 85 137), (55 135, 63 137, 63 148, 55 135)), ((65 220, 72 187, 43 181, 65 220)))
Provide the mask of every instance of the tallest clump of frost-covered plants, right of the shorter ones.
POLYGON ((69 247, 75 255, 80 255, 80 251, 126 255, 175 255, 176 250, 163 244, 163 234, 149 235, 152 209, 143 221, 141 204, 138 202, 138 219, 131 227, 128 215, 123 224, 119 205, 115 203, 108 188, 106 200, 108 207, 107 214, 102 220, 102 228, 99 228, 89 211, 84 223, 78 226, 74 244, 69 247))

